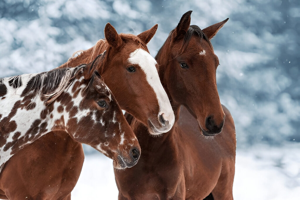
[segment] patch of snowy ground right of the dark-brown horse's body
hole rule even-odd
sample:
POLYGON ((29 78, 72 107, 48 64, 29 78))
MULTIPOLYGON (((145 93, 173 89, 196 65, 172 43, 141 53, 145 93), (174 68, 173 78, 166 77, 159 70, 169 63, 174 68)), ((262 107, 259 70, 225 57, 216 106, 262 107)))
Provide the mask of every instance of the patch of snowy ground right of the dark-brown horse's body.
POLYGON ((238 150, 233 196, 243 200, 299 199, 299 145, 257 145, 247 150, 238 150))

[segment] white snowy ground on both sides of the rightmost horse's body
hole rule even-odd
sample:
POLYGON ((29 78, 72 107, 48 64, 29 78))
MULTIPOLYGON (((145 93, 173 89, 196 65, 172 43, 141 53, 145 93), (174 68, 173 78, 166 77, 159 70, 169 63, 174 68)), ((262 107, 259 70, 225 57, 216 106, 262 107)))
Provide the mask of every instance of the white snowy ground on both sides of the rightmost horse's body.
MULTIPOLYGON (((233 196, 236 200, 298 199, 300 196, 300 148, 256 145, 238 149, 233 196)), ((73 200, 117 199, 112 160, 102 154, 85 156, 73 200)))

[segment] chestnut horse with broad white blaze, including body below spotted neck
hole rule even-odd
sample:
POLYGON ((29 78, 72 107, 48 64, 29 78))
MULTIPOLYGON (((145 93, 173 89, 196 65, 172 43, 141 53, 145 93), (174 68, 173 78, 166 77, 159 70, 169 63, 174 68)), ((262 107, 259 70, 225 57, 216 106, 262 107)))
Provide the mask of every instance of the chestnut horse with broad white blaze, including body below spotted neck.
MULTIPOLYGON (((74 67, 89 62, 106 50, 98 72, 120 107, 147 125, 150 132, 160 134, 171 129, 175 117, 159 80, 157 63, 146 46, 156 29, 157 25, 137 36, 118 34, 108 23, 104 29, 104 40, 99 40, 90 49, 80 51, 80 55, 60 67, 74 67)), ((70 199, 83 160, 80 143, 66 133, 48 133, 11 157, 0 175, 0 186, 3 182, 18 181, 18 185, 11 185, 18 187, 18 193, 32 196, 39 193, 41 196, 55 196, 52 199, 70 199), (28 154, 32 156, 26 160, 21 159, 28 154), (10 178, 4 179, 3 174, 10 178), (48 186, 52 184, 59 185, 59 190, 49 190, 48 186)), ((1 193, 1 190, 2 198, 5 198, 5 191, 1 193)))

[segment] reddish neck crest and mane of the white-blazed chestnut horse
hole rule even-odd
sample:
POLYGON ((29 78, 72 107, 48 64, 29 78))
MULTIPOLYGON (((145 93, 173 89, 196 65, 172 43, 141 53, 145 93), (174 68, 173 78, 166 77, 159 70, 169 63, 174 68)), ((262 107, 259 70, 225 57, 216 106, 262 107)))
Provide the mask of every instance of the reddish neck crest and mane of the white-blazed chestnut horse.
POLYGON ((108 43, 106 40, 98 40, 95 46, 87 50, 76 51, 69 60, 59 66, 58 68, 66 68, 66 67, 76 67, 80 64, 86 64, 92 62, 99 54, 103 53, 108 49, 108 43), (79 55, 75 57, 76 53, 79 55))

